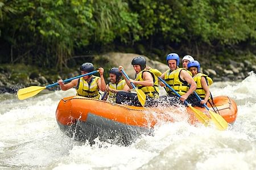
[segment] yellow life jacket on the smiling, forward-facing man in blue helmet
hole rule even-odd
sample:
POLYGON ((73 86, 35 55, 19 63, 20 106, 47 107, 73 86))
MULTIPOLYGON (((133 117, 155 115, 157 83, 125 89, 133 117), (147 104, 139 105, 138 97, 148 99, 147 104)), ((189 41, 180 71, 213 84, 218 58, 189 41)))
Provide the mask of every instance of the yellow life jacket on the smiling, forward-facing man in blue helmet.
MULTIPOLYGON (((189 90, 189 87, 188 87, 188 82, 180 78, 181 70, 188 71, 187 69, 184 69, 184 68, 177 68, 174 71, 171 71, 170 69, 168 69, 166 71, 166 74, 164 75, 164 81, 166 81, 167 84, 169 84, 178 94, 182 96, 189 90)), ((168 87, 166 88, 166 91, 168 94, 175 94, 168 87)))

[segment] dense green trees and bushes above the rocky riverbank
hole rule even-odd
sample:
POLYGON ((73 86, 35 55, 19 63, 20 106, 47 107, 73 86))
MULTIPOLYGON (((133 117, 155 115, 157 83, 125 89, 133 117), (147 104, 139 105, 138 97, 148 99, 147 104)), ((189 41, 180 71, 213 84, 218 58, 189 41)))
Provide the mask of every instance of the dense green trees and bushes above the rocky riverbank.
POLYGON ((255 8, 255 0, 2 0, 0 62, 62 69, 112 50, 240 59, 256 54, 255 8))

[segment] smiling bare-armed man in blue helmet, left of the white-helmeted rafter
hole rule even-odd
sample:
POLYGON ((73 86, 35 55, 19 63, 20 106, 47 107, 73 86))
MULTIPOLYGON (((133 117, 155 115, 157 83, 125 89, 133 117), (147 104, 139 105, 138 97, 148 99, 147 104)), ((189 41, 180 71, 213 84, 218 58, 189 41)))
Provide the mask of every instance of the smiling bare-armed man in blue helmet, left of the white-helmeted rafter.
MULTIPOLYGON (((164 72, 160 77, 169 84, 181 97, 177 97, 175 93, 166 87, 167 96, 161 96, 160 101, 163 104, 183 104, 184 100, 191 103, 191 95, 196 90, 196 82, 193 80, 191 74, 187 69, 179 68, 179 56, 176 53, 171 53, 166 56, 166 62, 170 69, 164 72), (189 87, 189 84, 191 86, 189 87), (183 102, 181 102, 181 101, 183 102)), ((160 86, 164 86, 161 82, 160 86)))

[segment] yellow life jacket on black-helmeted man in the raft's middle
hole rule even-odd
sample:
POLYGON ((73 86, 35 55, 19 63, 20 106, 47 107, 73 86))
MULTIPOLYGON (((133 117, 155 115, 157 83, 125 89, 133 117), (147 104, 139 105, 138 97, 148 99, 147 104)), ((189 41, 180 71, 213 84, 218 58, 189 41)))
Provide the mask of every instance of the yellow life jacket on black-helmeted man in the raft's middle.
POLYGON ((159 88, 158 88, 158 78, 154 73, 152 73, 150 70, 142 70, 141 72, 138 73, 138 76, 135 80, 144 81, 143 79, 144 72, 148 72, 152 75, 154 86, 141 86, 137 84, 137 87, 138 89, 141 89, 144 92, 144 94, 146 94, 147 96, 150 96, 156 99, 159 97, 159 88))

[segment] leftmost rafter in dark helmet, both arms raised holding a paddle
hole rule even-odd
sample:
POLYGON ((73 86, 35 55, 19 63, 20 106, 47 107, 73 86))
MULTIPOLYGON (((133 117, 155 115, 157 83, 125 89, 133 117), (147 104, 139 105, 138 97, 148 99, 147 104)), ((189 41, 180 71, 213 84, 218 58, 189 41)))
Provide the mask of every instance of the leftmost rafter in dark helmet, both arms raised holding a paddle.
MULTIPOLYGON (((106 83, 104 80, 104 69, 100 67, 99 69, 100 77, 94 75, 86 75, 79 79, 74 79, 71 82, 64 84, 63 80, 60 79, 58 83, 63 91, 69 90, 72 87, 76 87, 76 92, 78 96, 89 97, 93 99, 100 99, 100 90, 106 90, 106 83)), ((80 67, 81 74, 86 74, 94 71, 92 63, 85 62, 80 67)))

